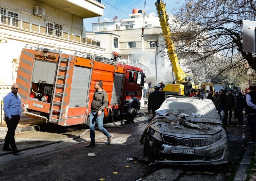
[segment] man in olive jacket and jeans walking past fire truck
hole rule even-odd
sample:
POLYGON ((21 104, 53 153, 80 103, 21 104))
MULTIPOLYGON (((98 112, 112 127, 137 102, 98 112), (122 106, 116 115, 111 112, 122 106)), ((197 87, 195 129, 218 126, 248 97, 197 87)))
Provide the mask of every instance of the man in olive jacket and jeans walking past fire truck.
MULTIPOLYGON (((108 94, 107 92, 102 89, 103 83, 102 81, 98 80, 95 85, 94 89, 96 91, 93 94, 93 100, 91 103, 91 112, 90 112, 90 138, 91 142, 85 147, 94 147, 95 146, 95 121, 97 121, 99 130, 107 136, 108 141, 107 144, 110 144, 112 141, 113 134, 108 133, 108 131, 103 127, 103 119, 104 119, 104 109, 108 106, 108 94)), ((88 120, 87 120, 88 121, 88 120)))

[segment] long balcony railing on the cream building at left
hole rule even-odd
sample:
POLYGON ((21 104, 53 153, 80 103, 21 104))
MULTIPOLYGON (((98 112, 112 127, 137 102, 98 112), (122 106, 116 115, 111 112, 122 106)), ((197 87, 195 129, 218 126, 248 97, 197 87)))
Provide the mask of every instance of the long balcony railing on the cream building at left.
POLYGON ((22 19, 3 16, 1 14, 0 14, 0 24, 15 26, 15 27, 30 30, 30 31, 33 31, 33 32, 43 33, 43 34, 51 35, 51 36, 54 36, 54 37, 64 38, 64 39, 67 39, 67 40, 73 40, 73 41, 76 41, 76 42, 85 43, 85 44, 100 47, 100 41, 98 41, 98 40, 94 40, 94 39, 91 39, 91 38, 86 38, 84 36, 77 35, 77 34, 74 34, 74 33, 69 33, 69 32, 64 32, 64 31, 61 31, 61 30, 49 28, 49 27, 44 26, 44 25, 39 25, 39 24, 32 23, 32 22, 29 22, 29 21, 24 21, 22 19))

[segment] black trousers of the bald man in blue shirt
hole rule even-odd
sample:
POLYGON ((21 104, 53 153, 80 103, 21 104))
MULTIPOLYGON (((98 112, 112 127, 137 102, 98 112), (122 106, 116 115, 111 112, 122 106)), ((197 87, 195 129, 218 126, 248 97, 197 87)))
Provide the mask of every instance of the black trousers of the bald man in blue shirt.
POLYGON ((4 138, 4 148, 9 147, 9 145, 13 148, 16 148, 15 144, 15 129, 20 121, 19 115, 11 115, 12 119, 9 120, 8 117, 5 117, 5 122, 8 128, 7 134, 4 138))

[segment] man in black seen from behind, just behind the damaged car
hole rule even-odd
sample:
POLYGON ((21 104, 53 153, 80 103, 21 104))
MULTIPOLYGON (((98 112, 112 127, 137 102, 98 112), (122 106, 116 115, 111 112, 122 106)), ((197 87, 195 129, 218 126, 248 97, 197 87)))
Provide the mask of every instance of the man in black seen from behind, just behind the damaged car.
POLYGON ((155 111, 163 104, 165 98, 164 94, 159 91, 160 85, 156 84, 154 86, 155 91, 152 92, 148 97, 148 113, 151 114, 150 109, 152 109, 152 114, 155 117, 155 111))

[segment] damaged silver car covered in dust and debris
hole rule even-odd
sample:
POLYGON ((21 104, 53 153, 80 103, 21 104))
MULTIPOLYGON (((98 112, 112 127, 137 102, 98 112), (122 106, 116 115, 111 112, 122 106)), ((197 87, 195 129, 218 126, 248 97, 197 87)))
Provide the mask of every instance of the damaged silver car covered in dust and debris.
POLYGON ((144 156, 169 165, 229 162, 227 129, 209 99, 170 97, 140 139, 144 156))

